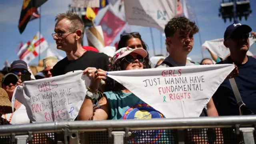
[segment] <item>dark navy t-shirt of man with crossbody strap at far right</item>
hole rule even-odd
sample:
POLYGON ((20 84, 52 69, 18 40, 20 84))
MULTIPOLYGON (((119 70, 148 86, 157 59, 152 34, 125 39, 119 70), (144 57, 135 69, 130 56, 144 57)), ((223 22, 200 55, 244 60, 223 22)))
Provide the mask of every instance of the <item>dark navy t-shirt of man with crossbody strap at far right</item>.
MULTIPOLYGON (((229 56, 227 60, 217 64, 232 64, 232 62, 229 56)), ((256 59, 248 56, 245 64, 236 64, 236 66, 239 75, 235 80, 242 100, 249 110, 256 113, 256 59)), ((220 116, 239 115, 237 101, 228 79, 220 85, 213 95, 213 100, 220 116)))

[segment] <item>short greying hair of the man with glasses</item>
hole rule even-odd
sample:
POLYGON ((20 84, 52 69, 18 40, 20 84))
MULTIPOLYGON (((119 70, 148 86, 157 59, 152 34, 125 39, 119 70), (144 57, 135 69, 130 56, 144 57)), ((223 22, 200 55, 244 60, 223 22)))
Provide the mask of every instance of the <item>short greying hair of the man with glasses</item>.
POLYGON ((84 37, 84 22, 82 19, 78 16, 78 14, 72 12, 72 11, 67 11, 66 13, 61 13, 58 14, 55 18, 56 22, 59 22, 60 20, 69 20, 70 21, 70 30, 82 30, 82 36, 81 38, 83 39, 84 37))

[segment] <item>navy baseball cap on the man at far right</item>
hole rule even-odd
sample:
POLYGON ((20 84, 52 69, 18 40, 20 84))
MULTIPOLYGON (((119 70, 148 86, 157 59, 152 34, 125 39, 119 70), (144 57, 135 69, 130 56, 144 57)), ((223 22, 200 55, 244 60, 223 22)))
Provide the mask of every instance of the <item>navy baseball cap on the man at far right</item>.
POLYGON ((230 24, 230 26, 227 27, 224 33, 224 40, 226 40, 228 36, 231 36, 231 34, 237 30, 241 30, 244 33, 249 33, 252 31, 252 28, 246 24, 240 24, 240 23, 230 24))

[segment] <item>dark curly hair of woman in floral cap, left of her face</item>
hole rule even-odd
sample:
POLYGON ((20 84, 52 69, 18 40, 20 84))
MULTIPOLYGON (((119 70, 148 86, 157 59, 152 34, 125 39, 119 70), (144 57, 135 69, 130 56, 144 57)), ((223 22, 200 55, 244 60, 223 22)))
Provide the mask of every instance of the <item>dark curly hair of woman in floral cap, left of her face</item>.
MULTIPOLYGON (((116 60, 114 64, 111 64, 109 71, 120 71, 122 69, 122 59, 116 60)), ((116 91, 116 90, 122 90, 123 86, 119 82, 116 82, 112 78, 107 77, 106 79, 106 87, 105 87, 105 92, 108 91, 116 91)))

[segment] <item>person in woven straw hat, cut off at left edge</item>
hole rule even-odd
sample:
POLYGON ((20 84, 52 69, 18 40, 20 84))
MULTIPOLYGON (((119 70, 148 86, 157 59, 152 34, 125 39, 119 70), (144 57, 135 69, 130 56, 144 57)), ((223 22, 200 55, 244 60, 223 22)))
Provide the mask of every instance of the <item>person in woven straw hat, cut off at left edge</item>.
MULTIPOLYGON (((3 88, 0 88, 0 116, 8 113, 12 113, 12 104, 9 100, 7 92, 3 88)), ((6 124, 10 124, 10 122, 0 117, 0 125, 6 124)))

